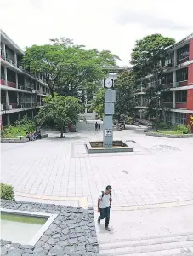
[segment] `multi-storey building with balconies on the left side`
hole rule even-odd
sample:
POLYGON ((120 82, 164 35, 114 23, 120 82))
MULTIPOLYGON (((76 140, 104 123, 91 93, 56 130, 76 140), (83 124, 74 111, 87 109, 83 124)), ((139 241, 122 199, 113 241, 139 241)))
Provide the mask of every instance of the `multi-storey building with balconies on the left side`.
POLYGON ((2 125, 13 124, 24 115, 33 118, 48 95, 48 84, 40 73, 22 67, 24 51, 1 30, 1 116, 2 125))

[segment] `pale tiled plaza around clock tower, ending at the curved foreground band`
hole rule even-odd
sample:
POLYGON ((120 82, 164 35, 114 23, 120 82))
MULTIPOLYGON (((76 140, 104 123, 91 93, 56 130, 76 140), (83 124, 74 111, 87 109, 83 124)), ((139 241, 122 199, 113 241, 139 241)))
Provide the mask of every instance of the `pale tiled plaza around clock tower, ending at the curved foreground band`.
POLYGON ((140 206, 193 199, 193 138, 147 137, 143 131, 114 132, 133 140, 131 153, 92 154, 85 141, 101 140, 94 124, 80 124, 64 139, 49 134, 32 143, 2 145, 2 182, 31 195, 87 197, 96 207, 99 192, 113 188, 114 206, 140 206))

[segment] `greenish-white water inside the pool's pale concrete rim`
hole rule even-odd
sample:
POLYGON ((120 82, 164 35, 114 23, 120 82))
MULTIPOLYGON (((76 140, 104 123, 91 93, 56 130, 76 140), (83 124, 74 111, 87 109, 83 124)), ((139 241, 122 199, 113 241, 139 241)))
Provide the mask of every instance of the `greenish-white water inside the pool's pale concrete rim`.
POLYGON ((1 213, 1 239, 28 244, 48 218, 1 213))

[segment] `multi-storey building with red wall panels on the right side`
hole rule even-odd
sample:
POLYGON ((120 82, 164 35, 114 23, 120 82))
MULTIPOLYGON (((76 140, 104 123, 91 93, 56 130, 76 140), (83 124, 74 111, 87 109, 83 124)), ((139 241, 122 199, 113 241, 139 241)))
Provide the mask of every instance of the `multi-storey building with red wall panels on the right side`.
MULTIPOLYGON (((163 106, 167 109, 167 122, 177 125, 190 124, 193 120, 193 34, 167 49, 168 54, 162 65, 165 67, 161 79, 164 93, 163 106)), ((149 83, 154 83, 154 78, 149 83)), ((137 88, 138 106, 148 105, 146 88, 137 88)), ((192 124, 193 125, 193 124, 192 124)))

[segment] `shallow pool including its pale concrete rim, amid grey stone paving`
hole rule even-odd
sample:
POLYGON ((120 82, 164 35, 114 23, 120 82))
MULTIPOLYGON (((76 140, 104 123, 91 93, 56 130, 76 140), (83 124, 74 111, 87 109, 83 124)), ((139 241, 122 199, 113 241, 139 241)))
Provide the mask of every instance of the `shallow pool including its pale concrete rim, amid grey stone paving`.
POLYGON ((1 208, 1 239, 34 246, 57 214, 1 208))

